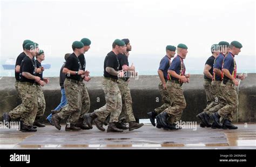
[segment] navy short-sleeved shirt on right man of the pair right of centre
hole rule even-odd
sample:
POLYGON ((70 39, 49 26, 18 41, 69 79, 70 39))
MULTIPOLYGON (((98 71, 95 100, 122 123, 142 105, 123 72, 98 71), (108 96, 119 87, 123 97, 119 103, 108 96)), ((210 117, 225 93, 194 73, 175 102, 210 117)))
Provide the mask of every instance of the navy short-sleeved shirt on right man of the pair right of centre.
MULTIPOLYGON (((178 75, 185 75, 185 64, 183 62, 183 59, 177 55, 173 60, 168 70, 175 71, 178 75), (182 65, 182 66, 181 66, 182 65)), ((171 76, 171 80, 179 80, 178 78, 175 78, 171 76)))

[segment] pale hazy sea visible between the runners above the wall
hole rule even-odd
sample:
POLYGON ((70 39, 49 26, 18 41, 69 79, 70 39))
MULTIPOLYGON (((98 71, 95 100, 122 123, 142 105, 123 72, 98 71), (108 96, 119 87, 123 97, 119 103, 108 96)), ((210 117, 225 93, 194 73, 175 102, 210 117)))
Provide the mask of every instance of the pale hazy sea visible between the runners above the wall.
MULTIPOLYGON (((164 55, 130 55, 129 63, 133 63, 136 67, 136 71, 139 75, 158 75, 158 67, 161 58, 164 55)), ((210 57, 210 55, 208 55, 210 57)), ((208 57, 194 58, 187 56, 184 60, 186 65, 186 73, 190 74, 203 74, 205 62, 208 57)), ((15 58, 16 59, 16 58, 15 58)), ((86 70, 90 71, 90 76, 103 76, 103 64, 105 56, 88 55, 86 56, 86 70)), ((14 69, 5 70, 3 64, 7 58, 0 59, 0 76, 15 76, 14 69)), ((256 62, 255 56, 238 55, 235 57, 237 62, 238 73, 256 73, 256 62)), ((45 57, 42 64, 50 64, 50 69, 45 69, 43 75, 45 77, 56 77, 59 76, 60 68, 64 63, 64 57, 45 57)))

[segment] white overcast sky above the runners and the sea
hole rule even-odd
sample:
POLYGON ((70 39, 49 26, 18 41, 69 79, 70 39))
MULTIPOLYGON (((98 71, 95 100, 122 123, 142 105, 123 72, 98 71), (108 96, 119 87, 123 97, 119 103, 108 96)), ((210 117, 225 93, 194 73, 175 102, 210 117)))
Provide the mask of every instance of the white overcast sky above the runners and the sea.
POLYGON ((75 40, 92 41, 89 55, 105 57, 114 39, 129 38, 131 54, 165 54, 188 46, 190 57, 209 55, 220 40, 238 40, 255 55, 254 0, 215 1, 2 1, 1 57, 16 58, 24 39, 48 57, 72 52, 75 40))

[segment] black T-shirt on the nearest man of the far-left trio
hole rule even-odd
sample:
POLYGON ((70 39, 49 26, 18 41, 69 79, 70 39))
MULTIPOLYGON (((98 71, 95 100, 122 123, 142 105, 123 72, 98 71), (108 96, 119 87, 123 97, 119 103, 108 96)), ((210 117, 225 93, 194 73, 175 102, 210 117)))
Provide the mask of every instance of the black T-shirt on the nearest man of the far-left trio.
POLYGON ((28 78, 25 78, 23 75, 22 75, 22 72, 28 72, 32 75, 35 75, 36 76, 36 71, 35 71, 35 64, 34 64, 34 61, 32 59, 30 59, 28 56, 26 56, 22 62, 21 62, 21 70, 20 70, 20 73, 19 73, 19 81, 20 82, 30 82, 30 83, 35 83, 35 80, 31 80, 31 79, 28 79, 28 78))

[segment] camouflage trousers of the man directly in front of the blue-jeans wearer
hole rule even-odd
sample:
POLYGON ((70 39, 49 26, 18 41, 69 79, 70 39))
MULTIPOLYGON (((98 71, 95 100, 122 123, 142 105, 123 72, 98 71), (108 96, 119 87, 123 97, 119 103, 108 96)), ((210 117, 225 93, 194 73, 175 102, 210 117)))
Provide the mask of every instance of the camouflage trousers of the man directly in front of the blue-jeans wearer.
POLYGON ((67 124, 76 124, 82 108, 80 88, 78 83, 72 82, 70 79, 65 79, 64 89, 68 105, 58 113, 58 116, 61 119, 68 117, 67 124))

